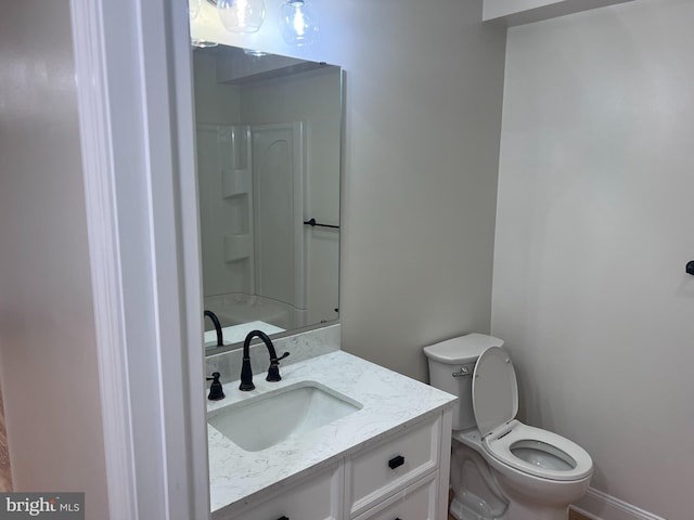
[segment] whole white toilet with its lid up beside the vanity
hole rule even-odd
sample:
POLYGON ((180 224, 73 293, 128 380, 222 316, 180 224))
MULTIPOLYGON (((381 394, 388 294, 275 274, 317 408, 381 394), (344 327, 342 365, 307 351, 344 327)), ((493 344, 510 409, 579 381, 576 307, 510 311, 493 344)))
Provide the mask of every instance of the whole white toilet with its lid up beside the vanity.
POLYGON ((502 346, 468 334, 424 348, 432 386, 459 396, 450 512, 459 520, 566 520, 593 461, 568 439, 515 419, 518 387, 502 346))

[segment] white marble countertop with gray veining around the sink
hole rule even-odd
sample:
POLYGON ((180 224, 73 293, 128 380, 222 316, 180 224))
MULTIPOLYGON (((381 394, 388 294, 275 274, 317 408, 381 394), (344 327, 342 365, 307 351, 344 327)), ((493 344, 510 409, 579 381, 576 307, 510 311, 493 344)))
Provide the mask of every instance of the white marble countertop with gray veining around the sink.
MULTIPOLYGON (((357 401, 362 408, 259 452, 246 452, 207 425, 211 511, 253 500, 269 487, 333 463, 375 440, 452 405, 455 396, 343 351, 281 366, 282 380, 254 375, 256 389, 224 385, 227 398, 208 402, 207 411, 274 391, 300 381, 316 381, 357 401)), ((281 419, 277 425, 281 428, 281 419)))

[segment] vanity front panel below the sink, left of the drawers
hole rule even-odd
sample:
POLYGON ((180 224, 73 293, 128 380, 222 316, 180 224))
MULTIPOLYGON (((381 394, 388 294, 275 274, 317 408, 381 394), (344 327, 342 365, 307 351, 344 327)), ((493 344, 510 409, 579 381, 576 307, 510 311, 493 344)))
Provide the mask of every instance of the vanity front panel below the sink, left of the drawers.
POLYGON ((229 520, 338 520, 342 467, 308 477, 229 520))

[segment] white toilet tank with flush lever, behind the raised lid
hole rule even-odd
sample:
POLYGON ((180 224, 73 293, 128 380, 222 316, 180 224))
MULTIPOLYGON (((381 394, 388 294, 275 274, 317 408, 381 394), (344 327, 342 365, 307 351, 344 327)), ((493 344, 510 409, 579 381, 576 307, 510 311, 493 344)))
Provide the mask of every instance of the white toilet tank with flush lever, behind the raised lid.
POLYGON ((485 334, 467 334, 424 347, 429 364, 429 385, 458 395, 453 407, 453 430, 476 426, 473 411, 473 370, 477 358, 503 340, 485 334), (455 374, 455 375, 454 375, 455 374))

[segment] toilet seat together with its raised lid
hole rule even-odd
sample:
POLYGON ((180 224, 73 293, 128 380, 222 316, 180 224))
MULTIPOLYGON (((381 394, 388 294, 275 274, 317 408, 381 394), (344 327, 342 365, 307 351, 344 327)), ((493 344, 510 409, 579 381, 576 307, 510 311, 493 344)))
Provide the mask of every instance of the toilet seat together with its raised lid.
POLYGON ((497 460, 549 480, 580 480, 592 472, 590 455, 578 444, 515 420, 518 385, 503 349, 490 347, 479 355, 472 396, 483 447, 497 460))

